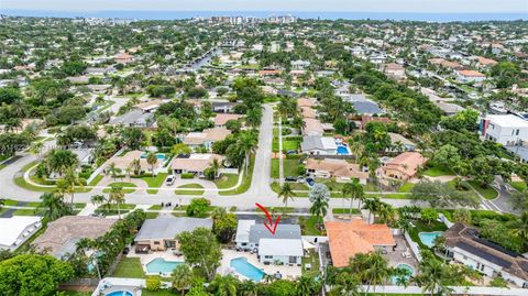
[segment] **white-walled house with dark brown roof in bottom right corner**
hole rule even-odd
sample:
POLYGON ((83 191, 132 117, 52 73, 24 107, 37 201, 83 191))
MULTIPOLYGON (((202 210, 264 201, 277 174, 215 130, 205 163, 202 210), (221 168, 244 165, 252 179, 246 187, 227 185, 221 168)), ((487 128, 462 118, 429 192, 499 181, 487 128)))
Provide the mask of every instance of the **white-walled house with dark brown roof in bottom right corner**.
POLYGON ((486 276, 502 276, 519 287, 528 288, 528 259, 479 235, 479 230, 455 223, 446 232, 448 257, 486 276))

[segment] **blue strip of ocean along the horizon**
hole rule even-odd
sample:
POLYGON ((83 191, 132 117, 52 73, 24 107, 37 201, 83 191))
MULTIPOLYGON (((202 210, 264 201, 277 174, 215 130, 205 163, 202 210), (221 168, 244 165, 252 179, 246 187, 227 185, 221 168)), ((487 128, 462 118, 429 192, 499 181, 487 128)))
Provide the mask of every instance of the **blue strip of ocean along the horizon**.
POLYGON ((42 18, 105 18, 132 20, 185 20, 209 17, 255 17, 294 15, 300 19, 320 20, 394 20, 426 22, 476 22, 527 20, 527 13, 435 13, 435 12, 358 12, 358 11, 45 11, 45 10, 2 10, 0 14, 10 17, 42 18))

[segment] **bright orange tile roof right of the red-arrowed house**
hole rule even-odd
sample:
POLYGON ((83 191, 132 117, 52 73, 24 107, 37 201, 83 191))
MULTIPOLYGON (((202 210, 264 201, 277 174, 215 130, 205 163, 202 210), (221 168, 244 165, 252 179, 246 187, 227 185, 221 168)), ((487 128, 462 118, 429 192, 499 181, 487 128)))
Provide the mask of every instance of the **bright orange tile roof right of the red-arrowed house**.
POLYGON ((391 229, 386 224, 367 224, 362 219, 324 222, 329 239, 332 263, 336 267, 349 265, 358 253, 374 251, 374 246, 395 245, 391 229))

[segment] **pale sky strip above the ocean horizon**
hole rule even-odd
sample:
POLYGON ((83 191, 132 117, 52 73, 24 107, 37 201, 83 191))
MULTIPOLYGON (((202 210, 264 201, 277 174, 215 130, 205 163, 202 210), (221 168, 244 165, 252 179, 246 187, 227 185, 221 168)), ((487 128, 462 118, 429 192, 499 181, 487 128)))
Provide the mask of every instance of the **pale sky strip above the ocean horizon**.
POLYGON ((1 10, 527 13, 528 0, 0 0, 1 10))

